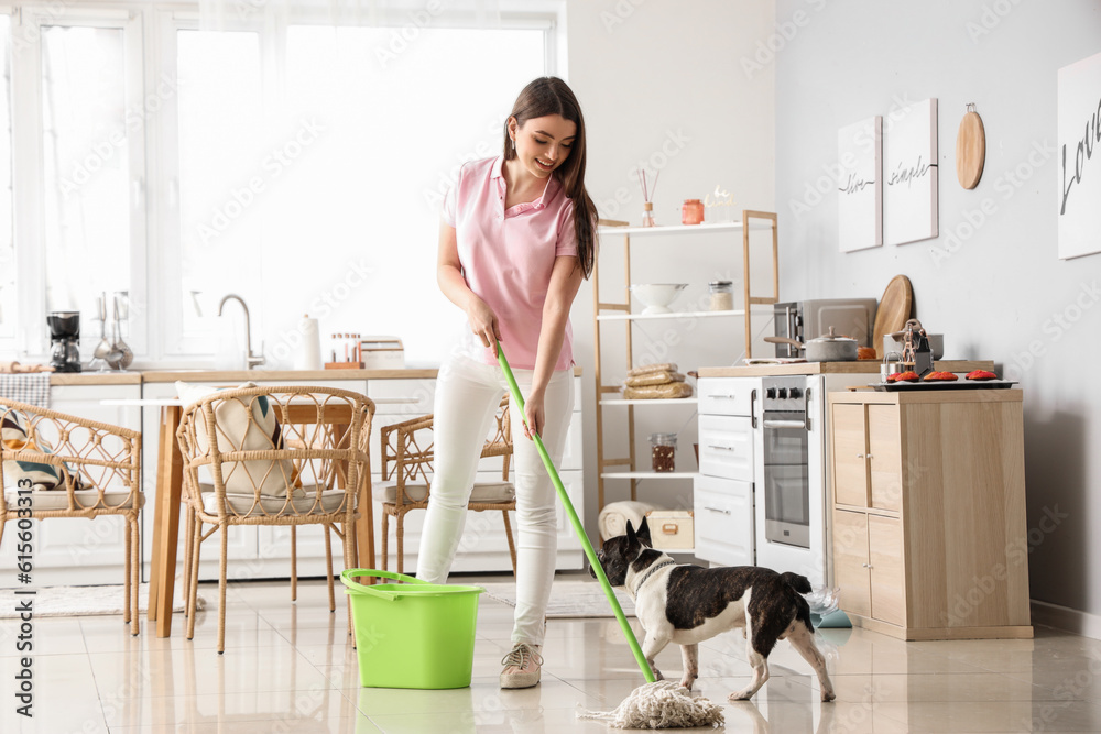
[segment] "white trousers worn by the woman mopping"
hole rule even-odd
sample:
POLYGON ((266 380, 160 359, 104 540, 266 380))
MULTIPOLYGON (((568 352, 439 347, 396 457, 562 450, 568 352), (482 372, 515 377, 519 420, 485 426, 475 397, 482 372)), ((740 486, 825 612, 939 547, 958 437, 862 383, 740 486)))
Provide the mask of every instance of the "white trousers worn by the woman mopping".
MULTIPOLYGON (((532 370, 513 370, 520 392, 531 393, 532 370)), ((467 503, 482 446, 501 398, 509 392, 504 372, 468 357, 453 357, 439 370, 433 408, 435 476, 421 534, 417 578, 444 583, 466 524, 467 503)), ((558 467, 574 412, 574 371, 550 377, 544 399, 543 443, 558 467)), ((542 645, 558 550, 557 497, 535 441, 524 436, 524 416, 510 401, 516 485, 516 615, 512 642, 542 645)))

